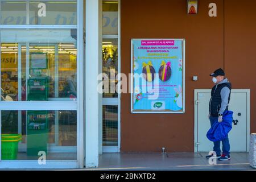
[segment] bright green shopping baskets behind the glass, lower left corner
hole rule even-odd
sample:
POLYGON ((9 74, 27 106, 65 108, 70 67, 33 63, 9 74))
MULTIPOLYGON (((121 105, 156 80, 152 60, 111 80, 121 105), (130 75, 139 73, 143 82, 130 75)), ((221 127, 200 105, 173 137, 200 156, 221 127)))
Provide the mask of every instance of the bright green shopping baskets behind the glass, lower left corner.
POLYGON ((20 134, 2 134, 1 135, 2 160, 17 159, 18 143, 21 139, 22 139, 22 135, 20 135, 20 134))

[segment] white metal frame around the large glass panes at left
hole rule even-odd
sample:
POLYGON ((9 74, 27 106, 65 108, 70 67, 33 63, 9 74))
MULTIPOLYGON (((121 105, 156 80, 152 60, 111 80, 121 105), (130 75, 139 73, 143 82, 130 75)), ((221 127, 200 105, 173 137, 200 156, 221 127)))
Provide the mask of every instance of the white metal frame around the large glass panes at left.
MULTIPOLYGON (((44 0, 49 1, 49 0, 44 0)), ((29 3, 29 1, 27 1, 29 3)), ((77 101, 0 101, 2 110, 74 110, 77 111, 77 160, 47 160, 46 165, 39 165, 38 160, 1 160, 0 168, 83 168, 84 167, 84 33, 83 4, 77 0, 77 24, 67 25, 2 25, 3 29, 76 29, 77 30, 77 101)), ((1 8, 1 3, 0 3, 1 8)), ((28 11, 27 11, 28 12, 28 11)), ((1 18, 1 13, 0 13, 1 18)), ((1 35, 1 31, 0 31, 1 35)), ((1 54, 0 54, 1 59, 1 54)), ((1 69, 1 64, 0 64, 1 69)), ((18 68, 20 69, 20 68, 18 68)), ((1 82, 0 82, 1 87, 1 82)), ((20 93, 19 93, 20 94, 20 93)), ((21 95, 20 95, 21 96, 21 95)), ((0 136, 1 136, 0 117, 0 136)))

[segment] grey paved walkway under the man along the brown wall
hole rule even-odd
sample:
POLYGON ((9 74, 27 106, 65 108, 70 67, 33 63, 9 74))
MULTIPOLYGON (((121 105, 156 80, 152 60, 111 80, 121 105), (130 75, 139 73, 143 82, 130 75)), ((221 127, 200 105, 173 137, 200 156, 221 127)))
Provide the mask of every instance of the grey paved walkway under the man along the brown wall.
POLYGON ((174 153, 122 153, 103 154, 99 158, 98 168, 82 170, 255 170, 250 167, 248 153, 232 153, 231 160, 217 161, 210 165, 205 158, 207 153, 174 152, 174 153))

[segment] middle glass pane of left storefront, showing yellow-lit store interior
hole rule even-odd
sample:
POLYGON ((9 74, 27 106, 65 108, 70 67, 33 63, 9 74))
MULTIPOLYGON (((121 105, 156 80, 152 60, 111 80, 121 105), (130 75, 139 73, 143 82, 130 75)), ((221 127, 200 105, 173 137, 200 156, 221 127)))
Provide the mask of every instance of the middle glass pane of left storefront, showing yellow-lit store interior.
POLYGON ((1 33, 2 101, 76 100, 76 32, 2 30, 1 33), (13 39, 12 34, 19 42, 7 42, 8 37, 13 39), (43 88, 46 98, 42 98, 43 94, 28 97, 43 88))

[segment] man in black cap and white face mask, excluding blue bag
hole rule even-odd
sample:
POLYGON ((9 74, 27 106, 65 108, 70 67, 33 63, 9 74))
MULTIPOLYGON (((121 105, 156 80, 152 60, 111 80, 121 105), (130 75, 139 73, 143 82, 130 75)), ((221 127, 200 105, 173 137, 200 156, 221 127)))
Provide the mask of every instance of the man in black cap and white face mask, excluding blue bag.
MULTIPOLYGON (((230 93, 232 89, 231 83, 228 78, 225 77, 224 71, 220 68, 210 74, 212 76, 212 81, 214 86, 212 88, 210 102, 209 102, 209 119, 210 125, 212 126, 214 122, 222 122, 222 115, 225 110, 228 110, 228 104, 230 101, 230 93)), ((216 152, 218 160, 225 161, 230 160, 230 144, 229 139, 226 138, 222 142, 222 155, 220 150, 220 141, 214 142, 213 151, 216 152)), ((208 155, 206 158, 211 158, 213 155, 208 155)))

